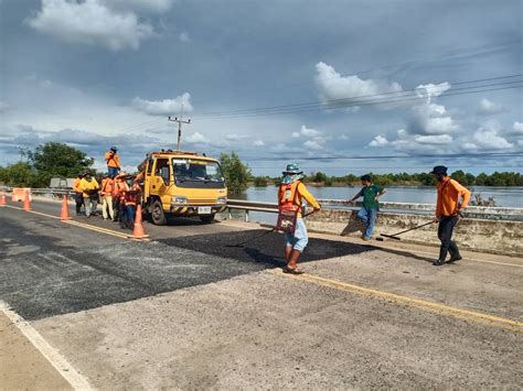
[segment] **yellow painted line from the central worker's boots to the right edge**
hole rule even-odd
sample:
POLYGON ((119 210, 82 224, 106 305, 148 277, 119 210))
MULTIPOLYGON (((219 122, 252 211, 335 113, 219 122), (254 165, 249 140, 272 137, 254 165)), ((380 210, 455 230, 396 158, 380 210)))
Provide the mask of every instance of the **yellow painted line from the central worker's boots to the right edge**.
POLYGON ((377 290, 370 289, 366 286, 361 286, 361 285, 350 284, 346 282, 340 282, 340 281, 335 281, 331 279, 325 279, 325 278, 314 275, 314 274, 306 273, 306 274, 300 274, 300 275, 292 275, 292 274, 284 273, 279 269, 271 269, 271 270, 268 270, 267 272, 275 275, 285 276, 285 278, 297 280, 297 281, 305 281, 305 282, 316 284, 316 285, 327 286, 327 287, 339 290, 339 291, 383 298, 383 300, 394 302, 397 304, 410 305, 424 311, 459 318, 462 321, 470 321, 470 322, 485 324, 489 326, 494 326, 498 328, 508 329, 511 332, 523 333, 523 323, 517 322, 517 321, 512 321, 512 319, 508 319, 508 318, 503 318, 499 316, 478 313, 474 311, 451 307, 445 304, 427 302, 425 300, 403 296, 395 293, 377 291, 377 290))

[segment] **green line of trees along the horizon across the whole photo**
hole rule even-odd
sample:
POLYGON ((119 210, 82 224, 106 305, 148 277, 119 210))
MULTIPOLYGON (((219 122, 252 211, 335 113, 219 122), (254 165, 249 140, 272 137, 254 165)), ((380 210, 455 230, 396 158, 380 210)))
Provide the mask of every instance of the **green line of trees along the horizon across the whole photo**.
MULTIPOLYGON (((47 142, 32 150, 21 150, 22 161, 0 166, 0 183, 8 186, 46 187, 52 177, 76 177, 93 170, 93 159, 81 150, 67 144, 47 142)), ((279 185, 281 176, 255 176, 238 154, 222 153, 220 163, 231 193, 239 193, 248 186, 279 185)), ((372 174, 372 173, 371 173, 372 174)), ((461 170, 451 176, 463 186, 523 186, 523 175, 516 172, 494 172, 473 175, 461 170)), ((372 174, 373 182, 382 186, 434 186, 435 178, 429 173, 372 174)), ((329 176, 322 172, 306 175, 306 183, 318 186, 359 186, 360 176, 346 174, 329 176)))

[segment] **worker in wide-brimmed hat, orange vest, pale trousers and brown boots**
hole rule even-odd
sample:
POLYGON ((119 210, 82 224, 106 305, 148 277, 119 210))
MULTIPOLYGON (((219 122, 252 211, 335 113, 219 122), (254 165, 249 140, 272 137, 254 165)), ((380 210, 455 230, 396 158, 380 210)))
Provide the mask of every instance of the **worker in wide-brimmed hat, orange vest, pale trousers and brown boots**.
POLYGON ((309 193, 301 182, 303 172, 297 164, 288 164, 278 191, 278 222, 277 229, 285 231, 285 259, 287 265, 284 273, 302 274, 298 269, 298 259, 307 247, 309 238, 302 215, 307 204, 314 211, 320 210, 320 204, 309 193))

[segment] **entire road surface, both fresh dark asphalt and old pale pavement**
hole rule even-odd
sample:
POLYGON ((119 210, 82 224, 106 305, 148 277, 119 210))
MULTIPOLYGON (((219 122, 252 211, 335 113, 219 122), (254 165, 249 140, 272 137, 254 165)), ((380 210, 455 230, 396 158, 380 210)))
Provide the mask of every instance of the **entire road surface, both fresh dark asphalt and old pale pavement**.
POLYGON ((145 222, 151 240, 132 241, 98 218, 60 221, 57 203, 20 207, 0 208, 0 298, 28 322, 0 319, 0 383, 39 355, 63 361, 29 389, 523 383, 522 259, 435 268, 435 248, 312 235, 307 273, 288 276, 279 233, 226 246, 265 232, 254 224, 145 222), (21 333, 46 348, 14 350, 21 333))

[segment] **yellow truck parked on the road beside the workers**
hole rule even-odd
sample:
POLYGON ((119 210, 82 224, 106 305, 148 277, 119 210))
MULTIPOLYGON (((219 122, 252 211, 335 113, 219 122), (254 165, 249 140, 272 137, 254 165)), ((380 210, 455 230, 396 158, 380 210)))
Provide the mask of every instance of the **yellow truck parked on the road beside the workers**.
POLYGON ((198 216, 209 224, 227 206, 225 177, 216 159, 161 150, 148 153, 138 170, 142 206, 154 225, 166 225, 169 216, 198 216))

